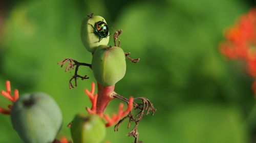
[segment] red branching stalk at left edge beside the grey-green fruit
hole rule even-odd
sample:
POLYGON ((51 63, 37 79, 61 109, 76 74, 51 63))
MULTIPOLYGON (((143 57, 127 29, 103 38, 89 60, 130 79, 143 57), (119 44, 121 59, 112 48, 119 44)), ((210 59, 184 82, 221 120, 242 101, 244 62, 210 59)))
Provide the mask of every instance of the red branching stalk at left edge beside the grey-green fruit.
MULTIPOLYGON (((4 97, 6 97, 7 99, 9 99, 10 101, 12 101, 13 103, 18 99, 19 95, 18 95, 18 90, 15 89, 14 90, 14 95, 11 95, 11 82, 9 80, 6 81, 6 91, 2 90, 0 92, 4 97)), ((9 109, 4 109, 2 107, 0 107, 0 113, 5 114, 5 115, 9 115, 12 109, 12 105, 8 105, 9 109)))

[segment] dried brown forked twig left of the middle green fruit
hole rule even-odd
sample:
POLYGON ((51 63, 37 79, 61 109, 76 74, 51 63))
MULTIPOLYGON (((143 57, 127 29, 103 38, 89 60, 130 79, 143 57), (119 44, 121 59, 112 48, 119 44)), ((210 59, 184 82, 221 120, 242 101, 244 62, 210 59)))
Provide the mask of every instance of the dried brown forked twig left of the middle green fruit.
POLYGON ((71 89, 71 88, 77 87, 77 78, 81 78, 82 80, 89 78, 89 77, 87 77, 87 75, 81 76, 81 75, 78 75, 78 74, 77 74, 77 71, 78 71, 79 66, 88 66, 88 67, 92 68, 92 65, 91 65, 91 64, 87 64, 87 63, 79 63, 79 62, 77 62, 77 61, 75 61, 75 60, 73 60, 73 59, 71 59, 71 58, 67 58, 67 59, 65 59, 65 60, 63 60, 63 61, 61 61, 61 62, 59 62, 58 65, 60 65, 60 67, 63 67, 63 65, 66 64, 67 62, 69 62, 69 63, 68 63, 68 65, 67 65, 65 71, 69 71, 69 70, 71 70, 71 69, 74 69, 74 66, 75 66, 75 73, 74 73, 74 75, 71 77, 71 79, 69 80, 69 88, 71 89), (73 64, 73 62, 74 62, 74 64, 73 64), (73 84, 72 84, 72 80, 73 80, 73 79, 75 80, 75 87, 74 87, 73 84))

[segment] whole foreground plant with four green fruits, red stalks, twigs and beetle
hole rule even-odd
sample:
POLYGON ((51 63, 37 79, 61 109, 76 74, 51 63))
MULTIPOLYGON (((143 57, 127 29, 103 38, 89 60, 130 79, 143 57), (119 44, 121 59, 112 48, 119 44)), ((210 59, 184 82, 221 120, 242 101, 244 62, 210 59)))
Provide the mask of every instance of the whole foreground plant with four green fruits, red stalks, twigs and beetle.
MULTIPOLYGON (((74 69, 75 74, 70 79, 70 88, 74 88, 71 81, 77 78, 87 79, 87 76, 77 74, 79 66, 88 66, 93 70, 95 79, 97 80, 98 93, 95 94, 95 83, 92 83, 91 91, 85 90, 86 94, 92 102, 92 107, 87 108, 89 115, 77 114, 74 120, 68 125, 71 129, 71 136, 74 143, 99 143, 105 136, 106 127, 115 125, 115 131, 124 119, 135 122, 135 127, 129 133, 129 136, 135 137, 135 143, 138 142, 139 132, 137 131, 138 123, 144 115, 144 111, 152 111, 152 115, 156 111, 150 100, 144 97, 126 99, 118 95, 114 89, 115 84, 121 80, 126 71, 125 58, 133 63, 137 63, 139 59, 129 57, 131 53, 125 53, 120 48, 120 41, 116 43, 121 31, 114 34, 115 46, 109 46, 109 28, 106 21, 101 16, 93 16, 90 14, 84 18, 81 26, 81 40, 86 49, 93 54, 92 64, 79 63, 73 59, 65 59, 58 63, 61 67, 67 63, 66 71, 74 69), (113 99, 120 99, 127 104, 127 108, 123 110, 123 104, 120 103, 117 114, 113 113, 110 117, 107 113, 103 113, 106 106, 113 99), (141 102, 136 103, 135 100, 141 102), (137 115, 133 115, 132 109, 140 110, 137 115), (102 121, 105 120, 105 123, 102 121)), ((61 140, 56 139, 58 132, 62 126, 62 114, 57 103, 49 95, 45 93, 24 94, 19 97, 18 90, 14 90, 11 95, 10 81, 6 81, 6 91, 0 92, 4 97, 13 102, 9 105, 9 109, 0 107, 0 113, 11 116, 13 128, 16 130, 20 138, 26 143, 69 143, 66 137, 61 140)))

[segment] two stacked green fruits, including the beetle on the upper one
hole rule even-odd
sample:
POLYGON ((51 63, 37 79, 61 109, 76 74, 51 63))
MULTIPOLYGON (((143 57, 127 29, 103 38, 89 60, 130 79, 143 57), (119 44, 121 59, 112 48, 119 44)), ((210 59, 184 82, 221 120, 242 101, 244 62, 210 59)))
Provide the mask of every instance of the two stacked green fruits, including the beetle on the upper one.
POLYGON ((81 40, 92 52, 92 70, 101 85, 111 86, 121 80, 126 71, 124 51, 118 46, 108 46, 109 28, 101 16, 90 15, 82 21, 81 40))

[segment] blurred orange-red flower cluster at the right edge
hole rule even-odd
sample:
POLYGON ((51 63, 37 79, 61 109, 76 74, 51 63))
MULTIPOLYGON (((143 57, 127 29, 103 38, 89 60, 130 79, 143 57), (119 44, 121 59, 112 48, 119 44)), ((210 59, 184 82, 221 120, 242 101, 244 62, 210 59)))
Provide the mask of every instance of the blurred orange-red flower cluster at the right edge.
POLYGON ((225 33, 226 41, 220 43, 220 51, 230 59, 246 62, 247 71, 255 81, 252 90, 256 96, 256 9, 240 17, 225 33))

